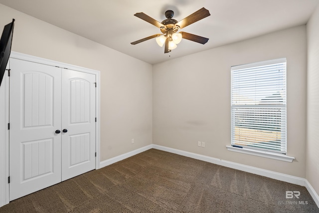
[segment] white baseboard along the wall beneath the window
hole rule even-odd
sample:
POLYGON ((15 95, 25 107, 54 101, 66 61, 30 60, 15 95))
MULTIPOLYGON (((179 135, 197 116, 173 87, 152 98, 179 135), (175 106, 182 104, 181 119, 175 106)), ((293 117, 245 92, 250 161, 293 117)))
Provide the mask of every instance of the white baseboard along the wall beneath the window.
POLYGON ((195 153, 191 153, 191 152, 172 149, 169 147, 163 147, 163 146, 159 146, 159 145, 155 145, 155 144, 153 145, 153 148, 158 149, 158 150, 162 150, 162 151, 166 151, 166 152, 170 152, 170 153, 174 153, 174 154, 178 154, 181 156, 185 156, 185 157, 194 158, 197 160, 217 164, 220 166, 229 167, 232 169, 236 169, 236 170, 240 170, 240 171, 249 172, 252 174, 272 178, 275 180, 284 181, 284 182, 291 183, 291 184, 306 186, 306 179, 304 179, 304 178, 299 178, 299 177, 286 175, 286 174, 282 174, 282 173, 278 173, 278 172, 272 172, 269 170, 259 169, 256 167, 246 166, 243 164, 238 164, 238 163, 234 163, 234 162, 230 162, 230 161, 224 161, 224 160, 217 159, 217 158, 212 158, 212 157, 199 155, 199 154, 195 154, 195 153))

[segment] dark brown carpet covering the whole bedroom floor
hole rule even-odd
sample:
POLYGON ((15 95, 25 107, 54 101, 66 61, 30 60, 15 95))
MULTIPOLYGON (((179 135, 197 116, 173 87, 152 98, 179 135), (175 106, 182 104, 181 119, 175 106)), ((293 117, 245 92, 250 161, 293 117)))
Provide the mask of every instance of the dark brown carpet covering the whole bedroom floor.
POLYGON ((305 187, 151 149, 14 200, 1 213, 319 213, 305 187), (300 191, 300 199, 286 199, 300 191))

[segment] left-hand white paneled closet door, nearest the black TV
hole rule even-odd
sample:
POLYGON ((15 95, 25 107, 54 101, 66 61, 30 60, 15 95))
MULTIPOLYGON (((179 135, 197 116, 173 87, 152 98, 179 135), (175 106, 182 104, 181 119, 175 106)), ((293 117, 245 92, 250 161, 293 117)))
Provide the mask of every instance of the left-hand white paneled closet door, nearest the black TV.
POLYGON ((10 59, 10 201, 61 182, 61 68, 10 59))

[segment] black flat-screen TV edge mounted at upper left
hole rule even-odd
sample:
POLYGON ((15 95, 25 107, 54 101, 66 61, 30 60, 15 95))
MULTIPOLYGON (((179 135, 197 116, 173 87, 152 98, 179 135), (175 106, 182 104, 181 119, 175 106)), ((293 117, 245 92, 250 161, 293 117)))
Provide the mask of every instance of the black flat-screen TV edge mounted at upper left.
POLYGON ((2 78, 5 72, 6 64, 8 63, 10 52, 11 52, 11 43, 12 43, 12 34, 14 19, 11 23, 8 23, 4 26, 1 40, 0 40, 0 85, 2 78))

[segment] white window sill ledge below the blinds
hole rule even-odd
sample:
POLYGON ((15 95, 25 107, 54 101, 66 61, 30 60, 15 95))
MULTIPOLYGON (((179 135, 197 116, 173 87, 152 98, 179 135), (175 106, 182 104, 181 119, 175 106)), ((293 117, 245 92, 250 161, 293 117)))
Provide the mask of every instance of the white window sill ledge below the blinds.
POLYGON ((232 146, 226 146, 228 151, 232 152, 239 152, 239 153, 244 153, 248 155, 255 155, 259 157, 264 157, 264 158, 271 158, 279 161, 286 161, 292 163, 295 157, 290 157, 285 154, 280 154, 280 153, 272 153, 272 152, 267 152, 267 151, 261 151, 261 150, 253 150, 253 149, 248 149, 248 148, 238 148, 238 147, 232 147, 232 146))

